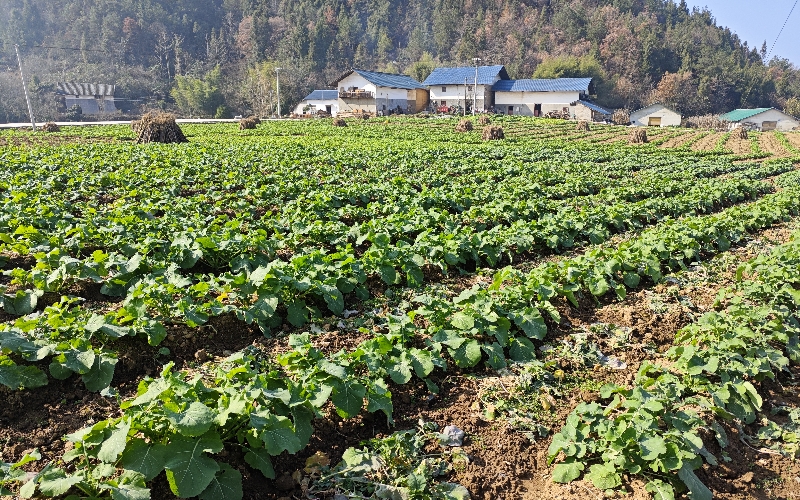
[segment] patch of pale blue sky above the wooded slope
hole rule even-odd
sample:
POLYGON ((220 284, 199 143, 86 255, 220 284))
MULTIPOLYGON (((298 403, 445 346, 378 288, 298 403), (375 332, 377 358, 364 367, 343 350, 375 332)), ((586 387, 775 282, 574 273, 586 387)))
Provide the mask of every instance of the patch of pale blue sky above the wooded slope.
MULTIPOLYGON (((690 7, 708 7, 718 25, 730 28, 750 47, 761 49, 766 40, 769 50, 795 0, 687 0, 687 3, 690 7)), ((800 3, 772 51, 772 56, 776 55, 800 66, 800 3)))

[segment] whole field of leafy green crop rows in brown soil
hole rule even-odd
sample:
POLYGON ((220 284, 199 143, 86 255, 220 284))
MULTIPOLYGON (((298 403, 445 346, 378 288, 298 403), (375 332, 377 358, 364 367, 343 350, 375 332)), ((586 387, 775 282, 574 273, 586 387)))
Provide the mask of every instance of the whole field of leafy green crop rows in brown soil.
POLYGON ((795 133, 456 123, 0 133, 0 496, 785 498, 795 133))

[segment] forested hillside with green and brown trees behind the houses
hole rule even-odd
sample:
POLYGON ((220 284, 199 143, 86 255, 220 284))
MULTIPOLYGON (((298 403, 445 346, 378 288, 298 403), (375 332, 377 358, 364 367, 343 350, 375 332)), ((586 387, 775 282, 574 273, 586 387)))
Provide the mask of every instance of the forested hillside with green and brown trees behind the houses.
POLYGON ((25 117, 15 44, 42 118, 58 81, 116 84, 126 109, 268 114, 276 67, 286 110, 350 67, 424 78, 473 57, 512 78, 595 76, 610 107, 796 112, 800 95, 789 61, 683 1, 0 0, 0 41, 0 121, 25 117))

